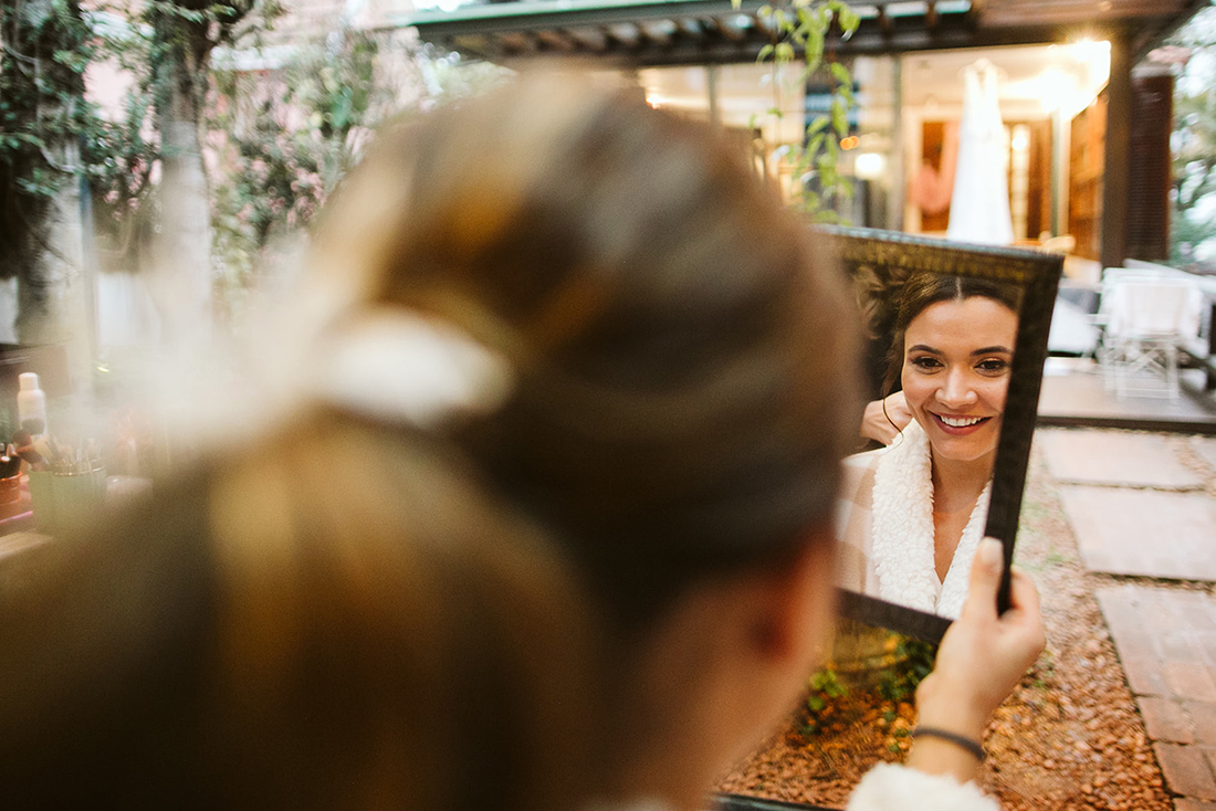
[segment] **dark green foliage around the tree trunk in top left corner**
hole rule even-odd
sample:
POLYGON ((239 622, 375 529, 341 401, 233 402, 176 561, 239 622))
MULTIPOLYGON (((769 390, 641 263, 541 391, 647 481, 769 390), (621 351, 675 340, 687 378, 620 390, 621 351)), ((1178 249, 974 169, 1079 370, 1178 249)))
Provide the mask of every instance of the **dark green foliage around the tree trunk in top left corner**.
MULTIPOLYGON (((77 0, 0 7, 0 276, 18 272, 24 249, 43 240, 46 202, 66 182, 88 180, 98 247, 126 254, 159 157, 154 105, 164 101, 167 58, 207 52, 248 15, 252 0, 179 5, 151 0, 140 11, 77 0), (182 23, 179 26, 178 23, 182 23), (84 97, 90 64, 109 62, 134 77, 117 120, 84 97)), ((206 72, 202 73, 206 88, 206 72)))

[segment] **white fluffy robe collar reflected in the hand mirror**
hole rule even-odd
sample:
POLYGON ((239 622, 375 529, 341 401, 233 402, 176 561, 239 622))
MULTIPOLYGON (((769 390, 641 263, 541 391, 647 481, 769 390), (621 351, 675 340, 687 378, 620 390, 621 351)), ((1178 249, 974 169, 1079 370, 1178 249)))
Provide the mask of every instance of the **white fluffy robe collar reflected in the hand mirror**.
POLYGON ((975 550, 984 536, 990 481, 984 486, 946 580, 934 563, 933 461, 929 438, 913 421, 874 471, 871 553, 878 574, 878 596, 930 614, 957 618, 967 597, 975 550))

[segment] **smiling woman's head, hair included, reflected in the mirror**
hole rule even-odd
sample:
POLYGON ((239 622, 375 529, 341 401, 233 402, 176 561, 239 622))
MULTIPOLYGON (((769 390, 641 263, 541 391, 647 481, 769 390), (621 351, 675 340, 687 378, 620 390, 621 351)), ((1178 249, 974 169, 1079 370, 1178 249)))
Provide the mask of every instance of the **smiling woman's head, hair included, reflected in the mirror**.
POLYGON ((991 464, 1018 306, 1017 288, 989 280, 921 274, 905 283, 891 368, 935 460, 991 464))

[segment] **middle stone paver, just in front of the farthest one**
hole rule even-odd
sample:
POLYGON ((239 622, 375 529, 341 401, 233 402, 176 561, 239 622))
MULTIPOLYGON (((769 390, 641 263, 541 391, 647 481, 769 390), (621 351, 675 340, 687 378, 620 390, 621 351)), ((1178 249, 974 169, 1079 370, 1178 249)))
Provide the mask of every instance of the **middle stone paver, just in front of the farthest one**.
POLYGON ((1216 580, 1216 501, 1203 492, 1065 485, 1060 501, 1091 571, 1216 580))

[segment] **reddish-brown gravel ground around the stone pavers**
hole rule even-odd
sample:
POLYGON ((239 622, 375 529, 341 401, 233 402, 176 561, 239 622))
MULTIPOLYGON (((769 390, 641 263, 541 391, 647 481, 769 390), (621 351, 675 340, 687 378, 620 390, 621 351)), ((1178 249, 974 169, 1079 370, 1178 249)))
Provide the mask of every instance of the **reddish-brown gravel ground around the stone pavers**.
MULTIPOLYGON (((1184 438, 1170 438, 1186 457, 1184 438)), ((1203 464, 1197 457, 1188 463, 1203 464)), ((1210 468, 1204 467, 1209 475, 1210 468)), ((1207 491, 1216 492, 1216 477, 1207 491)), ((1087 573, 1041 457, 1032 454, 1017 558, 1042 596, 1047 649, 997 710, 981 784, 1008 811, 1172 811, 1144 722, 1124 681, 1094 591, 1127 580, 1087 573)), ((1144 579, 1138 579, 1144 581, 1144 579)), ((1210 590, 1206 584, 1166 584, 1210 590)), ((721 782, 720 790, 844 807, 878 760, 900 760, 914 709, 851 697, 841 721, 805 733, 796 711, 721 782)))

